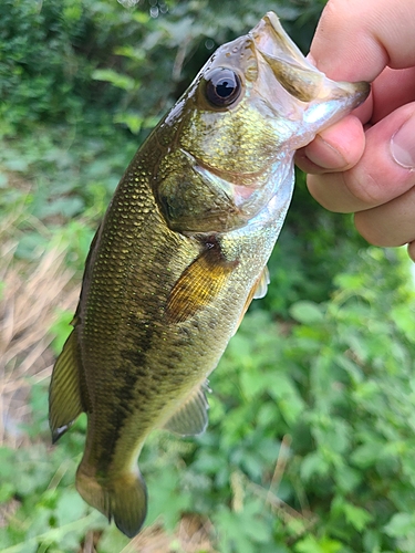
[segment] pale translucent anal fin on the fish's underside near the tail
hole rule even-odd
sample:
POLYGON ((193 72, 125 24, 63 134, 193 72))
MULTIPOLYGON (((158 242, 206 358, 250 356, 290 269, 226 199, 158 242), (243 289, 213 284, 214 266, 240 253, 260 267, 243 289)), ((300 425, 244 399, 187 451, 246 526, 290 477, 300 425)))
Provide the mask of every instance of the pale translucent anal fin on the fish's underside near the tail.
POLYGON ((179 436, 197 436, 206 430, 208 425, 206 385, 195 388, 177 411, 164 425, 166 430, 179 436))

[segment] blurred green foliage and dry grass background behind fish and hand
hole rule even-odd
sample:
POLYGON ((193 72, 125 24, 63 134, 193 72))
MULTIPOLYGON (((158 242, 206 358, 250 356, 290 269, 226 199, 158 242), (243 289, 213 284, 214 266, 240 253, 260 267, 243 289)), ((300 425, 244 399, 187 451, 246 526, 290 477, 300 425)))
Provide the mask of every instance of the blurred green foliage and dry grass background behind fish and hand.
POLYGON ((409 262, 319 207, 300 173, 268 295, 211 376, 208 431, 146 445, 144 532, 128 543, 76 494, 84 418, 50 445, 51 365, 136 148, 218 44, 274 10, 307 52, 323 4, 0 3, 1 551, 415 551, 409 262))

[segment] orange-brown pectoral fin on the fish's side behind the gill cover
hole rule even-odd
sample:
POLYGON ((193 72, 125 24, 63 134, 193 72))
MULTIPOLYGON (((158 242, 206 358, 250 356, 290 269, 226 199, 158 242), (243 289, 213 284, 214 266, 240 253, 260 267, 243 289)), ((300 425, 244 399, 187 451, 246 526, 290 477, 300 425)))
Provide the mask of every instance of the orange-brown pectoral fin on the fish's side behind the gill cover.
POLYGON ((173 286, 166 305, 167 321, 183 323, 214 301, 236 264, 222 257, 218 243, 207 248, 173 286))

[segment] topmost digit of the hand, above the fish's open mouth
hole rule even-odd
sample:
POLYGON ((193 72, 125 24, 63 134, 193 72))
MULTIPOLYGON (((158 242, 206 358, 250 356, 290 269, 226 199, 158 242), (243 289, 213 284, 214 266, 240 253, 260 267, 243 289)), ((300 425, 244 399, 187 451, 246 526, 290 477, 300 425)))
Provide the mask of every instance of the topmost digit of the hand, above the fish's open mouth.
POLYGON ((351 82, 414 65, 413 0, 329 0, 310 53, 330 79, 351 82))

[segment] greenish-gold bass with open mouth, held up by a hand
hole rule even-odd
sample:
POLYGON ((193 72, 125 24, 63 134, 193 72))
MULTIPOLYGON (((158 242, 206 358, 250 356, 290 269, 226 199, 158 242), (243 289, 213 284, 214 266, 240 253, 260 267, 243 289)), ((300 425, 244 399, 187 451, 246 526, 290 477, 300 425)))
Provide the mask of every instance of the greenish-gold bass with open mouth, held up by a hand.
POLYGON ((207 427, 207 378, 267 291, 295 150, 369 92, 329 80, 269 12, 216 50, 122 177, 53 368, 49 421, 56 442, 86 413, 75 486, 125 535, 146 517, 137 460, 149 432, 207 427))

